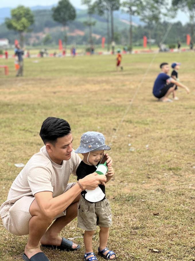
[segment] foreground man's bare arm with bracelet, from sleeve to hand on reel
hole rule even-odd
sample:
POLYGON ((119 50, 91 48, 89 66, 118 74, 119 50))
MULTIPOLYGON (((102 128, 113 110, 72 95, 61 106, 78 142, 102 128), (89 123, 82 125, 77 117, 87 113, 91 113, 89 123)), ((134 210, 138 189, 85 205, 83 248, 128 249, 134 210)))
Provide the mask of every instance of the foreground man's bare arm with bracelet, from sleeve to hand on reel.
MULTIPOLYGON (((97 173, 89 174, 79 180, 83 188, 88 190, 94 190, 100 182, 104 181, 106 181, 105 175, 98 175, 97 173)), ((76 183, 75 186, 70 188, 67 192, 55 198, 52 197, 53 193, 51 191, 38 192, 34 197, 43 213, 49 218, 54 218, 67 209, 81 191, 82 189, 78 183, 76 183)))

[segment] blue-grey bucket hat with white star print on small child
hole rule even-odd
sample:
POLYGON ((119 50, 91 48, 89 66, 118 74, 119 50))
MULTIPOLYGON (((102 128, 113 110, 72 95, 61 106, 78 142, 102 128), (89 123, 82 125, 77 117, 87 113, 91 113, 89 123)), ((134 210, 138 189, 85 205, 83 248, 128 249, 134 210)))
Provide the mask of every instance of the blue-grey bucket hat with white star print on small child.
POLYGON ((88 153, 95 150, 110 150, 110 146, 105 144, 105 137, 102 133, 88 131, 81 136, 80 146, 75 153, 88 153))

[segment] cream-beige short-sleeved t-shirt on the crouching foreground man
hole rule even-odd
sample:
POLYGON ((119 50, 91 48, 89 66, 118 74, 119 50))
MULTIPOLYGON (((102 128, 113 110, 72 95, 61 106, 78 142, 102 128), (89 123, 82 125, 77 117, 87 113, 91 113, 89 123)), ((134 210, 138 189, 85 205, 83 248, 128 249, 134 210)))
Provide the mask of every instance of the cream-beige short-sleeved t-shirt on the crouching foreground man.
POLYGON ((53 198, 65 191, 70 174, 76 175, 80 157, 74 151, 69 160, 63 160, 62 165, 53 162, 45 146, 34 154, 25 167, 13 181, 7 200, 1 205, 1 218, 7 216, 10 207, 23 196, 34 196, 41 191, 53 192, 53 198))

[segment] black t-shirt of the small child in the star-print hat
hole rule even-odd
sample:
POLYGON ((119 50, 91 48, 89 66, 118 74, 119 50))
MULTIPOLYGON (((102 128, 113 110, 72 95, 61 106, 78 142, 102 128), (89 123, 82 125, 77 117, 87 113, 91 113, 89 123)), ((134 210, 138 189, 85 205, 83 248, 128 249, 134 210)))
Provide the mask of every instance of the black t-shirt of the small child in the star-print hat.
MULTIPOLYGON (((80 162, 77 170, 76 170, 76 175, 77 175, 77 180, 84 178, 85 176, 94 173, 96 171, 96 167, 93 165, 88 165, 86 163, 84 163, 83 161, 80 162)), ((105 186, 100 184, 99 187, 101 188, 102 192, 106 195, 105 193, 105 186)), ((81 195, 85 198, 85 194, 87 192, 84 190, 81 192, 81 195)), ((106 198, 106 196, 102 199, 104 200, 106 198)), ((89 201, 90 202, 90 201, 89 201)), ((94 203, 94 202, 91 202, 94 203)))

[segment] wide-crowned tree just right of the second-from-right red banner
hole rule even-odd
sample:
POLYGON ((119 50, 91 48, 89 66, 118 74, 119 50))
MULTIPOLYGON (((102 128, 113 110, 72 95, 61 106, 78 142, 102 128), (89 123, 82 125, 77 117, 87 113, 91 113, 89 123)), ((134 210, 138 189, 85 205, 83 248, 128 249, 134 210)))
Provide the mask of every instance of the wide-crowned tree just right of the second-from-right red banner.
POLYGON ((150 49, 152 28, 161 21, 163 16, 167 15, 168 7, 169 1, 167 0, 142 0, 142 4, 140 5, 140 17, 148 28, 150 49))

